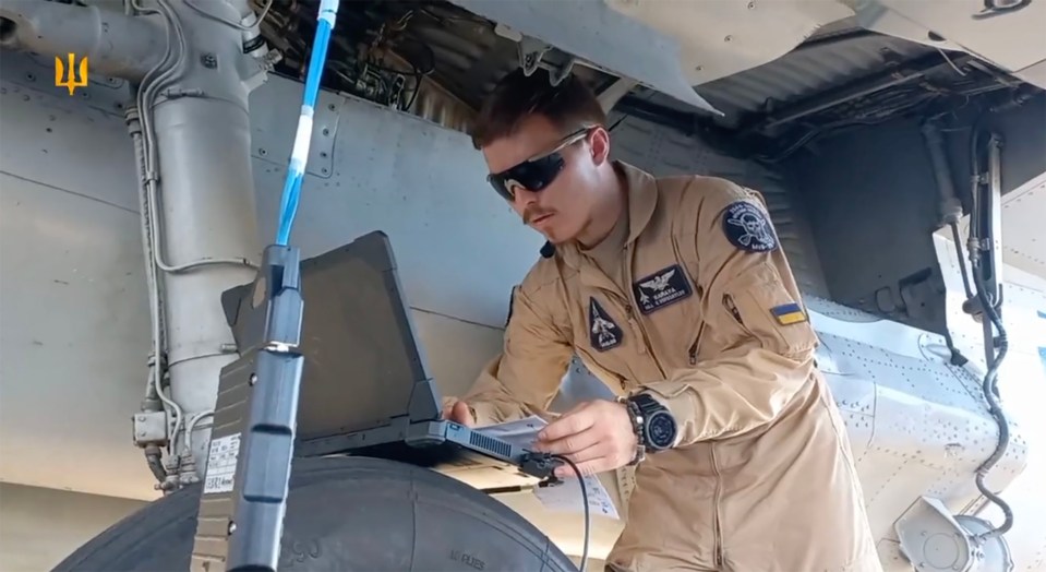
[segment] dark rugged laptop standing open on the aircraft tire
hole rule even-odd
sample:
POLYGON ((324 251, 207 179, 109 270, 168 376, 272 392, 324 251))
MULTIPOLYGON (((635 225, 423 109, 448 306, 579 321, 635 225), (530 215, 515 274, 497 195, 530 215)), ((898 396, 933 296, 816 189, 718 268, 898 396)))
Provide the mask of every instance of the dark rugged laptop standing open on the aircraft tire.
MULTIPOLYGON (((259 288, 245 285, 223 297, 241 351, 257 343, 251 325, 264 319, 253 308, 259 288)), ((305 364, 296 456, 350 453, 443 467, 500 464, 538 478, 551 472, 528 461, 516 444, 441 419, 442 400, 384 233, 302 261, 301 290, 305 364)))

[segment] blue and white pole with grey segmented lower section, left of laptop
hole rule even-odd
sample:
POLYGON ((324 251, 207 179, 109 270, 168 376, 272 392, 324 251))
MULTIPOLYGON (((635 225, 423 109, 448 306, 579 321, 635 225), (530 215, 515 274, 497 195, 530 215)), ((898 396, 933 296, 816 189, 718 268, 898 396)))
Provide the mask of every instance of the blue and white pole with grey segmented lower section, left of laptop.
POLYGON ((313 110, 338 0, 322 0, 294 146, 280 200, 276 241, 265 248, 259 285, 265 288, 265 331, 252 378, 253 396, 240 451, 242 482, 232 498, 232 525, 226 570, 276 572, 287 513, 298 396, 304 357, 298 351, 303 301, 301 255, 290 246, 301 182, 309 158, 313 110), (235 526, 235 527, 233 527, 235 526))

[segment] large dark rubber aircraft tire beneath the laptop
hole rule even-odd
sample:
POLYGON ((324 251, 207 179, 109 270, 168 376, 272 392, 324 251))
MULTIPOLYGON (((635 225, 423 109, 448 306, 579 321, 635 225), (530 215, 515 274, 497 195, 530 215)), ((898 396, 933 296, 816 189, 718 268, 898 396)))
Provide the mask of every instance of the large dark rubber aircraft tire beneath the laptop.
MULTIPOLYGON (((55 571, 188 571, 201 490, 193 485, 147 504, 55 571)), ((431 469, 346 456, 294 461, 278 569, 577 570, 537 527, 482 491, 431 469)))

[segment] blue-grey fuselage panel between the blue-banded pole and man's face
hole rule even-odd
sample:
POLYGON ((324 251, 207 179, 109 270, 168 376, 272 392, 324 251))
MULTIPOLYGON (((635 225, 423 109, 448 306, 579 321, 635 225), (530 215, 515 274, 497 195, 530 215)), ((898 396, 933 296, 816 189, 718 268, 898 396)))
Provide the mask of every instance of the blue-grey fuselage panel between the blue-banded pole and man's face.
MULTIPOLYGON (((411 306, 503 327, 509 291, 538 260, 540 235, 486 183, 467 135, 340 99, 333 171, 302 182, 291 236, 302 258, 384 230, 411 306)), ((254 165, 259 231, 272 241, 287 166, 267 157, 254 165)))

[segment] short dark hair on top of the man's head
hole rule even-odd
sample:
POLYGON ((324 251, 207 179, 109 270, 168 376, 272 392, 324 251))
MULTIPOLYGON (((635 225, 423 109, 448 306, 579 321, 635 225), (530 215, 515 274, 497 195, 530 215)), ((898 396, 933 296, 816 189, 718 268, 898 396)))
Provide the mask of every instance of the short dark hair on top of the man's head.
POLYGON ((483 102, 472 126, 472 144, 482 148, 512 135, 519 123, 533 115, 544 116, 564 131, 590 124, 606 124, 606 114, 591 90, 570 74, 553 86, 549 72, 536 70, 530 76, 521 68, 505 75, 483 102))

